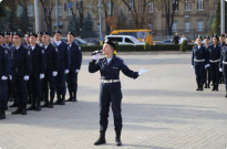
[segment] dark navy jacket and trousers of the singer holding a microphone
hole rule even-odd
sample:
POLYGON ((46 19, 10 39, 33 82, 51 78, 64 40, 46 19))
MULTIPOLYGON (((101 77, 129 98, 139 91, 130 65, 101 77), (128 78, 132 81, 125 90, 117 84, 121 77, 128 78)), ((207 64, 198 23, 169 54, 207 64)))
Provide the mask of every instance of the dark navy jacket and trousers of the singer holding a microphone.
MULTIPOLYGON (((120 71, 122 71, 126 76, 132 78, 137 78, 138 73, 131 71, 123 62, 122 58, 113 56, 111 62, 107 64, 107 60, 100 58, 97 62, 93 60, 89 64, 89 72, 95 73, 100 71, 102 81, 120 79, 120 71)), ((121 82, 115 83, 102 83, 100 84, 100 130, 105 131, 107 128, 107 117, 110 105, 112 105, 112 110, 114 115, 114 126, 115 131, 122 130, 122 91, 121 82)))

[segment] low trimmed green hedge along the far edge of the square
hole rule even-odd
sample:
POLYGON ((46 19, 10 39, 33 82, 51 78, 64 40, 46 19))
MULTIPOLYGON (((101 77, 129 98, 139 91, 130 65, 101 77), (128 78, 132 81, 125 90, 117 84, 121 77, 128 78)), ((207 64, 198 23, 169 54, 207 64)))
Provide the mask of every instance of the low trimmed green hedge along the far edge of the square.
MULTIPOLYGON (((179 51, 180 44, 157 44, 157 45, 151 45, 149 49, 144 50, 144 45, 118 45, 118 52, 120 51, 179 51)), ((193 50, 193 44, 188 44, 188 50, 193 50)), ((101 45, 82 45, 81 46, 82 51, 96 51, 96 50, 102 50, 101 45)))

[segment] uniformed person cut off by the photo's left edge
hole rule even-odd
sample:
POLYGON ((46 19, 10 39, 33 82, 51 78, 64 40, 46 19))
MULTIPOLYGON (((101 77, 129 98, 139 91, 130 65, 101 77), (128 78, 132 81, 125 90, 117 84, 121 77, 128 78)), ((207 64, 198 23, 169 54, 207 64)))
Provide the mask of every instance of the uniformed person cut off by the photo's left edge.
POLYGON ((9 51, 2 47, 3 44, 3 33, 0 33, 0 119, 6 118, 4 110, 8 109, 8 77, 10 74, 10 57, 9 51))

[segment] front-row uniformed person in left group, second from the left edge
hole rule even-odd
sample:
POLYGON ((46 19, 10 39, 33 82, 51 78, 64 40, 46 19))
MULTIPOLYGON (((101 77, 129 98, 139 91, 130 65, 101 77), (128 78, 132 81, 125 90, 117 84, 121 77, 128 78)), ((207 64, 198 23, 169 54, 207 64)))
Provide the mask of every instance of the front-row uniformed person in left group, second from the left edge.
POLYGON ((16 102, 18 109, 12 115, 27 115, 28 88, 27 82, 31 72, 31 57, 28 51, 21 44, 22 35, 18 32, 13 33, 13 42, 16 46, 11 51, 11 77, 16 93, 16 102))

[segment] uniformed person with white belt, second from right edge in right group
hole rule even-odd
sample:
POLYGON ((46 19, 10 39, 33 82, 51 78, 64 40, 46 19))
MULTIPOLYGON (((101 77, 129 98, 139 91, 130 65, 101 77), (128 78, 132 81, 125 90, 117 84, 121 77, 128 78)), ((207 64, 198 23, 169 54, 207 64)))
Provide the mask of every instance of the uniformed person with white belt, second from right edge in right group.
POLYGON ((213 44, 208 46, 208 61, 213 82, 211 91, 218 91, 220 46, 218 46, 218 36, 216 34, 213 35, 211 41, 213 44))

